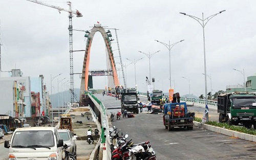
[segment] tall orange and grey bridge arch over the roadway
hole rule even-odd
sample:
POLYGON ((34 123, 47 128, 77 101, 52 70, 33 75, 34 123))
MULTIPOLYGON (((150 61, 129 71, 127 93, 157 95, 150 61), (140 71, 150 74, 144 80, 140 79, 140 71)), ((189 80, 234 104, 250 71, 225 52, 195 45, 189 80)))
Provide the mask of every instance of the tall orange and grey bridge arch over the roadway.
POLYGON ((105 29, 103 27, 101 27, 101 25, 94 25, 93 29, 91 30, 91 32, 89 33, 89 36, 87 38, 87 42, 86 42, 86 52, 84 54, 84 59, 83 59, 83 67, 82 67, 82 75, 81 75, 81 85, 80 85, 80 102, 81 102, 81 95, 84 94, 84 90, 88 90, 88 76, 89 76, 89 64, 90 64, 90 54, 91 54, 91 45, 92 45, 92 41, 93 41, 93 37, 95 35, 96 32, 100 32, 104 42, 105 42, 105 48, 106 48, 106 52, 108 54, 107 56, 107 60, 108 60, 108 66, 110 66, 110 69, 112 71, 112 81, 108 82, 109 86, 117 86, 119 85, 119 80, 118 80, 118 76, 117 76, 117 71, 116 71, 116 64, 115 64, 115 59, 113 56, 113 51, 112 51, 112 47, 111 47, 111 40, 110 40, 110 33, 109 31, 106 32, 105 29), (113 84, 111 84, 113 83, 113 84))

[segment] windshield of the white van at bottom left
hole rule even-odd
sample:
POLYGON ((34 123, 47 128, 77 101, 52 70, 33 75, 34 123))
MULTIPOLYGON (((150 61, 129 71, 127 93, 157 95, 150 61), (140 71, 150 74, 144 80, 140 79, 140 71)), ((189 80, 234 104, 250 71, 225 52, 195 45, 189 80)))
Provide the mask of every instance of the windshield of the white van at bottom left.
POLYGON ((28 130, 15 132, 13 135, 12 147, 24 148, 28 146, 53 147, 53 132, 51 130, 28 130))

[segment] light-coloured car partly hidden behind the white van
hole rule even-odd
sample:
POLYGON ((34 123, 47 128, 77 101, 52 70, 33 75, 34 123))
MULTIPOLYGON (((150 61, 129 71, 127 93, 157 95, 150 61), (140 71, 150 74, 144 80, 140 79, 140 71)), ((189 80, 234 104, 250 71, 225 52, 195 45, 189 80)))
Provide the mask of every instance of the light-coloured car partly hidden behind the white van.
POLYGON ((76 156, 76 138, 77 135, 73 135, 73 133, 69 129, 58 129, 59 137, 63 140, 63 144, 68 145, 68 150, 70 153, 76 156))

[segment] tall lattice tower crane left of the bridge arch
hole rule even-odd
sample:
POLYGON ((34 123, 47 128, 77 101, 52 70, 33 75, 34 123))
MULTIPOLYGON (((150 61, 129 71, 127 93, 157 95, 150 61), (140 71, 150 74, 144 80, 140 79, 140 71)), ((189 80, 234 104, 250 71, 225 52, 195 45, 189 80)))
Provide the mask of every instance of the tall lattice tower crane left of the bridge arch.
POLYGON ((72 17, 73 14, 76 14, 77 17, 82 17, 82 14, 76 10, 73 11, 72 7, 71 7, 71 2, 67 2, 69 5, 69 10, 64 9, 64 8, 60 8, 60 7, 56 7, 53 5, 49 5, 40 1, 35 1, 35 0, 26 0, 26 1, 30 1, 33 3, 37 3, 40 5, 44 5, 47 7, 51 7, 51 8, 55 8, 59 11, 66 11, 69 12, 69 54, 70 54, 70 90, 71 90, 71 102, 74 102, 74 73, 73 73, 73 27, 72 27, 72 17))

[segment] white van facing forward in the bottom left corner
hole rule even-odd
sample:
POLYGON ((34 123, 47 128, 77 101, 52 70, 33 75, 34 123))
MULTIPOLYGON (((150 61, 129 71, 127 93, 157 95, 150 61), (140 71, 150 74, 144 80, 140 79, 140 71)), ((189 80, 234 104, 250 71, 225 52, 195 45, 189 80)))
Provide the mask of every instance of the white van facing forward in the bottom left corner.
POLYGON ((9 160, 62 160, 63 140, 54 127, 17 128, 12 138, 5 141, 9 160))

